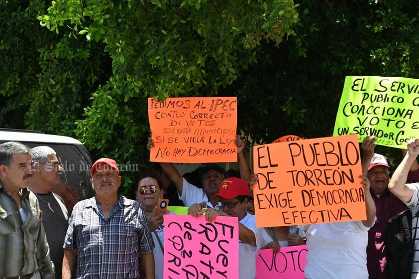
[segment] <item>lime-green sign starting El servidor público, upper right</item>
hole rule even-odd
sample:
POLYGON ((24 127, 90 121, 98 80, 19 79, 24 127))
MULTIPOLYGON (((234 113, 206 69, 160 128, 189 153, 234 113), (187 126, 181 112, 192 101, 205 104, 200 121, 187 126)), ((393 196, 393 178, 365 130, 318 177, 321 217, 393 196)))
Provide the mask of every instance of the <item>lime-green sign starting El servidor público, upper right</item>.
POLYGON ((406 148, 419 133, 419 80, 346 77, 333 136, 376 136, 376 144, 406 148))

